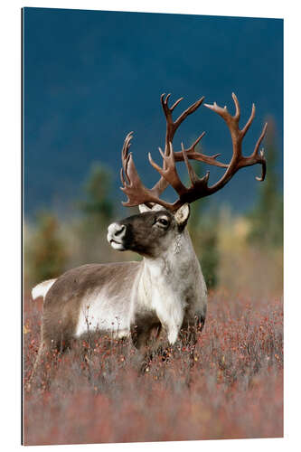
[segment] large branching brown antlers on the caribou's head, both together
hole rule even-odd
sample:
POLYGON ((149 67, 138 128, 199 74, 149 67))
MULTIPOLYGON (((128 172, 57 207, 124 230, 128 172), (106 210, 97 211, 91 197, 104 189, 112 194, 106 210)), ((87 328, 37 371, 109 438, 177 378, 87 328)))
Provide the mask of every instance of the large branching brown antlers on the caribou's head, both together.
MULTIPOLYGON (((233 146, 233 154, 228 165, 222 164, 217 161, 217 155, 203 155, 195 150, 195 146, 202 139, 204 133, 200 137, 196 139, 191 147, 185 149, 182 144, 182 151, 174 152, 172 140, 174 138, 174 133, 179 127, 179 125, 183 122, 184 118, 187 118, 188 115, 193 113, 201 104, 202 99, 195 102, 190 108, 187 108, 176 121, 172 119, 172 112, 176 105, 183 99, 178 99, 173 107, 168 107, 168 99, 169 95, 164 98, 164 95, 161 96, 162 106, 165 111, 165 117, 167 122, 166 127, 166 143, 165 143, 165 153, 163 153, 162 149, 159 147, 160 154, 163 158, 163 167, 161 168, 159 165, 155 164, 151 155, 148 155, 150 164, 155 168, 155 170, 161 174, 161 178, 157 184, 152 189, 147 189, 144 184, 142 184, 137 172, 136 167, 132 158, 132 155, 128 153, 128 148, 130 146, 130 140, 132 138, 132 133, 127 135, 125 140, 123 149, 122 149, 122 163, 123 170, 121 170, 121 181, 123 184, 122 190, 127 194, 127 202, 123 202, 124 205, 134 206, 140 203, 157 203, 161 204, 170 211, 175 211, 179 207, 181 207, 185 202, 193 202, 197 199, 203 198, 205 196, 209 196, 212 193, 221 190, 221 188, 227 184, 233 175, 242 167, 249 165, 259 164, 262 167, 261 177, 257 177, 259 181, 263 181, 266 175, 266 160, 264 157, 263 149, 259 151, 259 146, 265 136, 268 124, 265 124, 263 127, 262 133, 259 137, 259 140, 254 148, 254 151, 248 157, 244 157, 242 155, 242 140, 245 137, 246 133, 249 130, 249 126, 251 125, 254 116, 255 116, 255 106, 253 104, 252 112, 247 121, 245 127, 240 130, 239 121, 240 121, 240 104, 235 94, 232 93, 232 98, 235 103, 236 112, 234 116, 231 116, 228 112, 227 108, 219 107, 215 102, 213 105, 204 104, 205 107, 211 108, 213 111, 218 113, 221 118, 223 118, 230 129, 230 136, 232 139, 233 146), (167 139, 170 138, 170 141, 167 142, 167 139), (223 168, 227 168, 225 173, 221 176, 221 179, 212 186, 208 185, 209 181, 209 172, 205 174, 202 178, 199 178, 197 174, 195 174, 193 170, 193 166, 189 163, 189 159, 198 160, 201 162, 205 162, 209 165, 220 166, 223 168), (189 188, 185 187, 180 180, 180 177, 176 171, 175 162, 184 161, 188 170, 188 174, 191 180, 191 186, 189 188), (124 176, 125 174, 125 176, 124 176), (175 192, 178 193, 179 198, 174 203, 165 202, 159 199, 159 195, 162 193, 161 189, 165 190, 166 186, 170 184, 174 188, 175 192)), ((163 191, 162 190, 162 191, 163 191)))

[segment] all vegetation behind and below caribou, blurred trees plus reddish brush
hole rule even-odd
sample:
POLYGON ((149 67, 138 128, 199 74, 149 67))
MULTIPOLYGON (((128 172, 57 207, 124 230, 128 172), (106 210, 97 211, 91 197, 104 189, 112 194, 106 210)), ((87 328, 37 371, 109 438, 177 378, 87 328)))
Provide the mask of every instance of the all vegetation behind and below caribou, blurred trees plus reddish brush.
MULTIPOLYGON (((26 445, 283 436, 282 193, 270 124, 268 176, 251 211, 192 205, 188 230, 209 288, 193 365, 180 340, 141 375, 130 340, 88 334, 37 369, 24 393, 26 445)), ((76 215, 48 210, 24 222, 24 385, 40 344, 34 284, 86 262, 140 259, 106 240, 108 223, 124 216, 110 179, 94 166, 76 215)))

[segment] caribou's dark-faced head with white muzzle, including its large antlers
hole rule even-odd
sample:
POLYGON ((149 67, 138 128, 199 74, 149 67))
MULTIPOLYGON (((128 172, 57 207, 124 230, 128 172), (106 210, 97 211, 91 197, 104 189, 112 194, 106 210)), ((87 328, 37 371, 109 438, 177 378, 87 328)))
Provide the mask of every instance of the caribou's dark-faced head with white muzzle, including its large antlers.
POLYGON ((177 239, 181 237, 189 218, 189 203, 221 190, 225 184, 228 184, 232 176, 244 166, 261 165, 261 176, 257 177, 257 179, 263 181, 265 178, 266 160, 263 150, 259 151, 259 146, 265 136, 267 124, 263 127, 254 151, 249 156, 242 155, 242 140, 255 116, 254 104, 250 117, 242 129, 239 127, 240 104, 234 93, 232 93, 236 108, 234 116, 230 115, 227 107, 221 108, 215 102, 213 105, 204 104, 205 107, 220 115, 230 129, 233 154, 230 163, 224 164, 217 160, 220 154, 210 156, 196 150, 196 146, 204 136, 204 132, 189 148, 185 149, 182 143, 181 151, 174 151, 173 139, 175 131, 185 118, 201 106, 204 98, 194 102, 193 105, 183 111, 179 118, 173 120, 172 113, 174 108, 183 98, 178 99, 172 107, 169 107, 169 97, 170 94, 166 97, 165 94, 161 96, 161 104, 166 118, 165 152, 159 147, 163 158, 162 167, 157 165, 151 155, 148 154, 150 164, 161 176, 153 188, 148 189, 141 182, 132 153, 128 151, 131 146, 133 133, 130 132, 125 139, 122 148, 122 169, 120 172, 123 184, 121 190, 127 194, 127 202, 123 202, 123 204, 128 207, 139 205, 141 213, 108 226, 108 241, 115 250, 133 250, 144 256, 158 256, 164 250, 170 249, 172 245, 176 245, 177 239), (219 166, 224 168, 225 172, 219 181, 209 185, 209 172, 199 178, 195 174, 189 160, 197 160, 207 165, 219 166), (184 162, 187 167, 191 181, 189 188, 181 182, 176 171, 175 164, 180 161, 184 162), (171 185, 174 191, 178 193, 178 199, 174 203, 160 199, 160 195, 168 185, 171 185))

